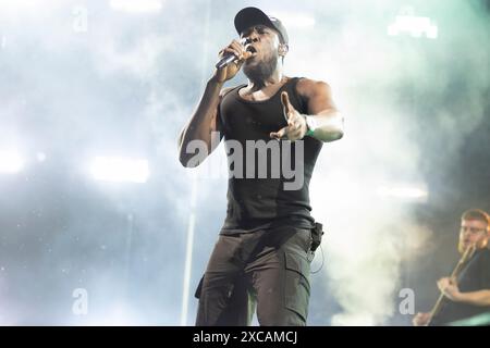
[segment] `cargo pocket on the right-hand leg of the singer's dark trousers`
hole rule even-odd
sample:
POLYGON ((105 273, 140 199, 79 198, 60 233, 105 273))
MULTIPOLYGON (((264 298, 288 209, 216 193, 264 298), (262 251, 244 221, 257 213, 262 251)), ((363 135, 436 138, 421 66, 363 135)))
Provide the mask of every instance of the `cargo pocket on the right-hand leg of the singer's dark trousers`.
POLYGON ((301 321, 293 321, 291 325, 306 325, 309 303, 309 262, 301 254, 284 253, 285 257, 285 308, 301 316, 301 321))

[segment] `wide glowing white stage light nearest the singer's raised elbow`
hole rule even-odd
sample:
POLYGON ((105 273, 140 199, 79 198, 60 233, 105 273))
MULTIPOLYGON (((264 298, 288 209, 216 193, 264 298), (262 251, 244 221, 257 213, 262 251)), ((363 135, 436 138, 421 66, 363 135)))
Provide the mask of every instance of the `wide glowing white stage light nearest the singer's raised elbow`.
POLYGON ((148 161, 127 158, 96 157, 90 164, 96 181, 115 183, 146 183, 149 176, 148 161))

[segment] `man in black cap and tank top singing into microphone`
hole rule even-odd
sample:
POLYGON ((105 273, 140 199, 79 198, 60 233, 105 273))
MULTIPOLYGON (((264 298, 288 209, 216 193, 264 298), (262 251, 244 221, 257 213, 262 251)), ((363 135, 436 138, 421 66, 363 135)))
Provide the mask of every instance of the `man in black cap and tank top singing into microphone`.
POLYGON ((234 24, 241 40, 220 52, 231 62, 208 80, 179 141, 181 163, 195 166, 224 137, 231 173, 196 325, 248 325, 255 308, 260 325, 306 325, 309 256, 321 235, 309 181, 322 144, 342 138, 343 117, 328 84, 284 74, 289 37, 278 18, 245 8, 234 24), (242 67, 248 83, 223 88, 242 67))

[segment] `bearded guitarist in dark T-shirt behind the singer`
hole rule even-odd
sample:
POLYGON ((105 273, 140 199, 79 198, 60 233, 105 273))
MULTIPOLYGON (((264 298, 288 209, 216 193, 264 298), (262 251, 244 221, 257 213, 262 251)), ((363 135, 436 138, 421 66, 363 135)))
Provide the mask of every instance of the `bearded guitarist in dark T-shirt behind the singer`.
POLYGON ((490 313, 490 217, 479 209, 467 210, 461 217, 458 251, 461 254, 473 246, 477 250, 466 262, 457 283, 443 277, 438 287, 444 295, 444 304, 433 318, 431 312, 417 313, 415 326, 444 325, 483 312, 490 313))

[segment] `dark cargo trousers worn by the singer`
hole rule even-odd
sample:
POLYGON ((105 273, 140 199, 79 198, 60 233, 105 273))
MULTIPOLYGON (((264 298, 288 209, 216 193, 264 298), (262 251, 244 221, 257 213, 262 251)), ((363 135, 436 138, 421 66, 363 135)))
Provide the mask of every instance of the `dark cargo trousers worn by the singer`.
POLYGON ((205 276, 196 325, 306 325, 311 231, 281 227, 220 235, 205 276))

